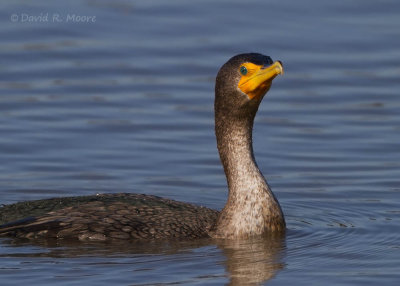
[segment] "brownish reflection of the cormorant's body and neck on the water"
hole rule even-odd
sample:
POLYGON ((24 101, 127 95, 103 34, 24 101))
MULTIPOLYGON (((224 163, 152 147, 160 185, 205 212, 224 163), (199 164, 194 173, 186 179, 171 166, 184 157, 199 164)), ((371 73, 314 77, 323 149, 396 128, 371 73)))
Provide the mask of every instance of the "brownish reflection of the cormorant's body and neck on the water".
MULTIPOLYGON (((136 254, 156 255, 190 255, 201 247, 221 251, 221 264, 226 269, 229 285, 259 285, 276 275, 283 268, 282 263, 285 254, 284 235, 271 235, 262 238, 248 240, 213 240, 198 239, 194 241, 135 241, 128 243, 82 243, 74 241, 41 240, 21 241, 16 239, 2 239, 2 244, 24 247, 29 245, 39 246, 36 251, 27 248, 28 253, 9 249, 8 253, 0 254, 0 257, 53 257, 75 258, 85 256, 123 256, 136 254)), ((205 250, 205 256, 207 256, 205 250)), ((217 253, 217 255, 219 255, 217 253)), ((197 258, 198 259, 198 258, 197 258)))

